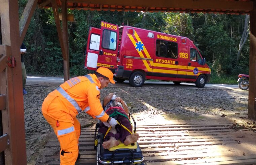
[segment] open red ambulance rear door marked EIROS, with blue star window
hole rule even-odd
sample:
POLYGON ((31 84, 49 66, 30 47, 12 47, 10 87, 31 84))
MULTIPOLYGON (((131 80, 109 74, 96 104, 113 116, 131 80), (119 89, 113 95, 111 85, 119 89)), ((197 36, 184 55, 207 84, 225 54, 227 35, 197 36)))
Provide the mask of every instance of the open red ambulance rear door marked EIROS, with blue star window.
POLYGON ((117 66, 119 29, 118 25, 101 21, 101 38, 97 67, 115 71, 117 66))

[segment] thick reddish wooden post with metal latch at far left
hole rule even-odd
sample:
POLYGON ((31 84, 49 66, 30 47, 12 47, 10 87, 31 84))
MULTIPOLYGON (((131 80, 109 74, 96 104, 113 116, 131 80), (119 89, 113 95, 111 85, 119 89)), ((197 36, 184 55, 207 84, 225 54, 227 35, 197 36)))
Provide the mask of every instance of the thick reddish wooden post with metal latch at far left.
MULTIPOLYGON (((0 94, 6 96, 2 110, 3 134, 8 133, 9 148, 4 150, 5 165, 27 164, 22 71, 17 0, 0 0, 2 44, 1 53, 16 59, 16 67, 6 66, 0 72, 0 94)), ((6 61, 7 62, 7 61, 6 61)), ((3 69, 3 68, 2 68, 3 69)))

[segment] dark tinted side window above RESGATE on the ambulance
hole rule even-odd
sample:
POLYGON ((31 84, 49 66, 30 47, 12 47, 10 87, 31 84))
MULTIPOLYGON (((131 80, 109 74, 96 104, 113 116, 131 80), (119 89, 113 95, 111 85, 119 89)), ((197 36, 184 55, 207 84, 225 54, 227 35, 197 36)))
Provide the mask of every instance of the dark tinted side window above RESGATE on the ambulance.
POLYGON ((178 44, 175 42, 156 40, 156 56, 177 58, 178 44))

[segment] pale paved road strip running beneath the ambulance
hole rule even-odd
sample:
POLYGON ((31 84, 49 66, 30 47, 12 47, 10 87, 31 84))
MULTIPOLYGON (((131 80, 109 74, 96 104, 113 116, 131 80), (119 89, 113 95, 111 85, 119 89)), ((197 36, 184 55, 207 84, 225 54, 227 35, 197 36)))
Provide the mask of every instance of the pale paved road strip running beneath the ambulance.
MULTIPOLYGON (((49 85, 59 86, 64 83, 63 77, 36 77, 27 76, 27 85, 49 85)), ((109 86, 113 86, 110 84, 109 86)), ((116 83, 115 87, 131 87, 129 81, 123 83, 116 83)), ((193 83, 181 83, 180 85, 174 85, 172 82, 156 82, 156 81, 145 81, 142 87, 179 87, 179 88, 197 88, 193 83)), ((226 88, 226 89, 237 89, 238 85, 224 85, 224 84, 206 84, 205 88, 226 88)))

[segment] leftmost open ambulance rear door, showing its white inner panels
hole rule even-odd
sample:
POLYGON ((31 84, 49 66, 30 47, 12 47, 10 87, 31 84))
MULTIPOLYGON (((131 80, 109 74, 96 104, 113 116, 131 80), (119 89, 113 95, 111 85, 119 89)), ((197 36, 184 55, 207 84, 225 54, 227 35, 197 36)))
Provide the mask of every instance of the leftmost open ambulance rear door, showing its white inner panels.
POLYGON ((85 55, 85 68, 96 70, 100 49, 101 30, 90 27, 85 55))

